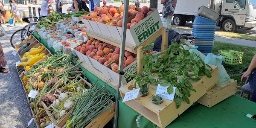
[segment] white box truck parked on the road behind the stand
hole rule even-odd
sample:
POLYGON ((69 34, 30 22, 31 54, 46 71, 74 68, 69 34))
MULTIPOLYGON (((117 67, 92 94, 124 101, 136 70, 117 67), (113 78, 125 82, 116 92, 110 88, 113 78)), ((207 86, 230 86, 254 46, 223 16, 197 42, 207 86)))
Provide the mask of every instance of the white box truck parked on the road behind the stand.
MULTIPOLYGON (((160 1, 157 9, 162 12, 160 1)), ((235 32, 238 28, 253 29, 256 26, 256 0, 177 0, 173 24, 184 26, 186 21, 193 22, 201 6, 221 14, 216 26, 223 31, 235 32)))

